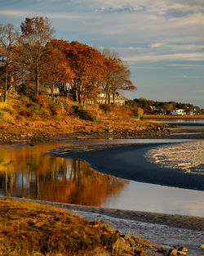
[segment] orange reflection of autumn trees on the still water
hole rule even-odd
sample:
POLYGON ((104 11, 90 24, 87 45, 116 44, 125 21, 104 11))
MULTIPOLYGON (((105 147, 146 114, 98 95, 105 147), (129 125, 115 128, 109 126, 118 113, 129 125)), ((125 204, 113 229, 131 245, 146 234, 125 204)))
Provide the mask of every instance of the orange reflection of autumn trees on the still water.
POLYGON ((100 206, 128 183, 98 173, 86 162, 43 154, 55 146, 0 149, 0 195, 100 206))

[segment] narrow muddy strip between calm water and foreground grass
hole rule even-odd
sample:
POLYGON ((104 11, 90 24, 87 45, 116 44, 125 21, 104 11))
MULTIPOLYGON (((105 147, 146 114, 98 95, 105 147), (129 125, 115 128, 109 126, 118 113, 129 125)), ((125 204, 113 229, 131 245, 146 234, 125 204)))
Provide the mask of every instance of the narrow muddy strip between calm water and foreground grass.
POLYGON ((166 213, 149 213, 133 210, 123 209, 107 209, 95 206, 86 206, 78 204, 65 204, 44 200, 32 200, 12 196, 0 195, 1 199, 20 200, 24 202, 33 202, 38 204, 49 204, 58 208, 68 209, 71 211, 82 211, 90 213, 98 213, 100 215, 106 215, 113 218, 121 218, 133 220, 136 222, 146 222, 160 225, 167 225, 169 227, 178 227, 184 229, 190 229, 195 231, 204 231, 204 218, 194 217, 179 214, 166 214, 166 213))

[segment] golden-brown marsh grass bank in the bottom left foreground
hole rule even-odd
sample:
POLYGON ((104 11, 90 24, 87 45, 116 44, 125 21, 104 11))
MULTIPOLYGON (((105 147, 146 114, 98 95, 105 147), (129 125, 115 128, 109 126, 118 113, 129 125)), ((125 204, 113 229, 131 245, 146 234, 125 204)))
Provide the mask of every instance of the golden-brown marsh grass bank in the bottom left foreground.
POLYGON ((0 255, 153 255, 159 249, 138 236, 122 236, 52 206, 0 200, 0 255))

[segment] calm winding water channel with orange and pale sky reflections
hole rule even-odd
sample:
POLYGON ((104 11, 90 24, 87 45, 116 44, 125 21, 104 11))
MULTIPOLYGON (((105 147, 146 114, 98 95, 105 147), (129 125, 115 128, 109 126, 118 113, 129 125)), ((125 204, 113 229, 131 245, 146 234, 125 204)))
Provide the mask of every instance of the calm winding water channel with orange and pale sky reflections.
MULTIPOLYGON (((133 141, 137 143, 166 142, 163 139, 121 142, 132 143, 133 141)), ((76 143, 84 144, 90 141, 73 142, 74 145, 76 143)), ((93 141, 92 143, 103 142, 93 141)), ((55 147, 70 146, 70 144, 72 143, 2 146, 0 148, 0 195, 204 217, 204 191, 127 181, 96 172, 84 161, 44 155, 55 147)))

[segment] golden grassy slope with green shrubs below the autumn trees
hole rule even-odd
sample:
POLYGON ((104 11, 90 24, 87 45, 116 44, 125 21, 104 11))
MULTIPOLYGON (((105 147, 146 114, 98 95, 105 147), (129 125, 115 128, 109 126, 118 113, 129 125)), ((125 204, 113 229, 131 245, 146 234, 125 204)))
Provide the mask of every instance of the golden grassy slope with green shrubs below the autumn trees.
POLYGON ((126 137, 133 131, 157 130, 161 126, 133 117, 134 112, 127 106, 80 106, 69 99, 29 98, 13 92, 7 103, 0 102, 0 142, 49 140, 56 136, 75 136, 76 133, 95 138, 104 133, 126 137))

